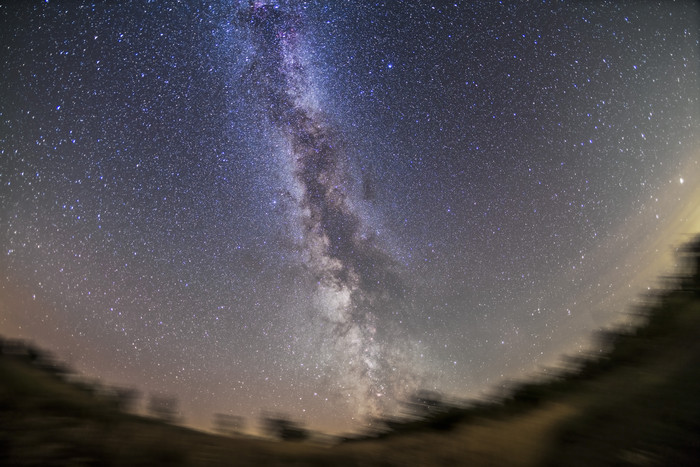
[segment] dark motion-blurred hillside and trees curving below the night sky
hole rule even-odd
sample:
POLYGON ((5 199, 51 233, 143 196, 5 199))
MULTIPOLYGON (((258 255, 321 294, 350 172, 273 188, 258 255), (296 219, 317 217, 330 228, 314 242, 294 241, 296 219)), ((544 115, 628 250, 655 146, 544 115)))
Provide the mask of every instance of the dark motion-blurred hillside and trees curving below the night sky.
POLYGON ((492 400, 417 397, 404 418, 334 442, 134 415, 128 391, 97 390, 3 340, 0 465, 699 465, 700 237, 680 254, 682 273, 633 310, 636 324, 599 333, 602 350, 492 400))

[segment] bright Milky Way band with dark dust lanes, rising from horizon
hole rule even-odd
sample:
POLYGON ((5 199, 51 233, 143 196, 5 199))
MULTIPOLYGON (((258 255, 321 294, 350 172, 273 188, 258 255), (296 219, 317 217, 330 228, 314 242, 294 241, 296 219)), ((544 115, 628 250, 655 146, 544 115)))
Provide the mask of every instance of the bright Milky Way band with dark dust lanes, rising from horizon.
POLYGON ((400 283, 391 259, 363 233, 353 209, 340 136, 322 109, 309 103, 313 84, 300 53, 301 15, 262 4, 241 16, 252 29, 255 49, 244 74, 287 143, 284 157, 295 182, 288 192, 294 193, 303 261, 316 280, 315 316, 308 324, 320 330, 324 371, 334 373, 337 390, 367 421, 389 413, 418 387, 417 368, 406 356, 399 358, 401 338, 390 328, 400 283))

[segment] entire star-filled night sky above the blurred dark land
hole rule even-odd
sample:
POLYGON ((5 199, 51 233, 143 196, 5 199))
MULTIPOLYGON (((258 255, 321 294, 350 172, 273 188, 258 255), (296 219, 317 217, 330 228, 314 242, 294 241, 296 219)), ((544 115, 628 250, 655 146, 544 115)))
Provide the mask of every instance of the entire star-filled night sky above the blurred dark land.
POLYGON ((693 1, 0 1, 0 333, 327 431, 585 348, 700 231, 693 1))

